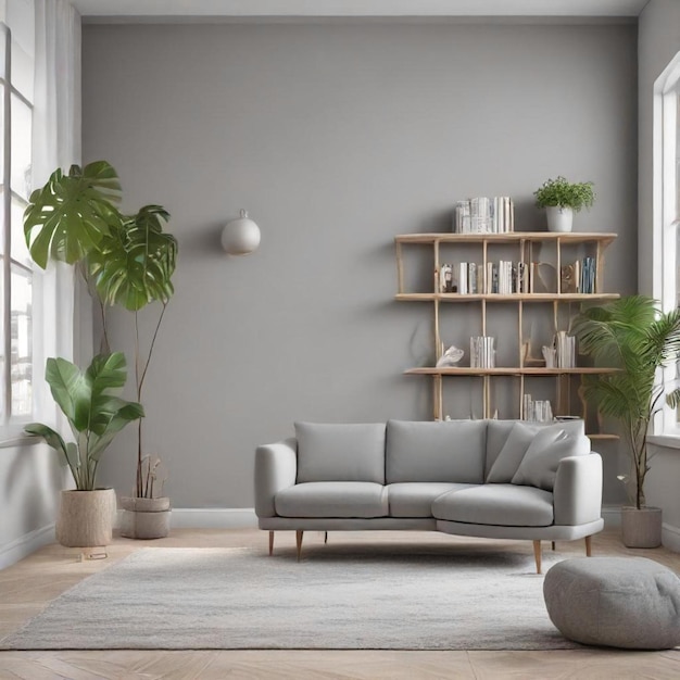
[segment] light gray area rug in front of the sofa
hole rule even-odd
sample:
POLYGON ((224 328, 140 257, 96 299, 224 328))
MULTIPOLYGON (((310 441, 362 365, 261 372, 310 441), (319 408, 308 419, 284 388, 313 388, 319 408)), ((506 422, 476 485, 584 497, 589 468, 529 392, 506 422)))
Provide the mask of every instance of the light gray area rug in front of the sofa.
MULTIPOLYGON (((331 534, 332 540, 332 534, 331 534)), ((3 650, 561 650, 521 551, 144 547, 54 600, 3 650)), ((544 570, 553 555, 546 555, 544 570)))

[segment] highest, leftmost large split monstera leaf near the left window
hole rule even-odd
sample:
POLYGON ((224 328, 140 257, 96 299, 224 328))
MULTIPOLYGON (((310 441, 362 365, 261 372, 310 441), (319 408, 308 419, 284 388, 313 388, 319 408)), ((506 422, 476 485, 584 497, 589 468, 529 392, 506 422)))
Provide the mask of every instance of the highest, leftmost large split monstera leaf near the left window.
POLYGON ((119 225, 119 200, 118 176, 105 161, 72 165, 67 175, 56 169, 24 213, 30 256, 43 269, 50 257, 79 262, 119 225))

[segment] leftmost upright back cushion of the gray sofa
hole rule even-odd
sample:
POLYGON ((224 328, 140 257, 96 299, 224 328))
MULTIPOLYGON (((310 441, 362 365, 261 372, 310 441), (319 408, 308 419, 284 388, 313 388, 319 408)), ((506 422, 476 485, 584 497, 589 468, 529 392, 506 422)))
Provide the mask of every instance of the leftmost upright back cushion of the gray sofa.
POLYGON ((295 423, 298 483, 385 483, 385 424, 295 423))

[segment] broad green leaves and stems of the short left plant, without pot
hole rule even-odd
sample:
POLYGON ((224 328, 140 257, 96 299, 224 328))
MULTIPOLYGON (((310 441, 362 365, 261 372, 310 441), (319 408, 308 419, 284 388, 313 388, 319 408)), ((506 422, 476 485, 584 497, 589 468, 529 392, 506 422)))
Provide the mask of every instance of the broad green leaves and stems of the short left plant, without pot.
POLYGON ((68 420, 75 442, 42 423, 30 423, 27 435, 41 437, 71 469, 78 491, 97 488, 97 468, 113 438, 144 415, 141 404, 121 399, 127 368, 125 354, 99 354, 81 372, 65 358, 48 358, 45 378, 68 420))

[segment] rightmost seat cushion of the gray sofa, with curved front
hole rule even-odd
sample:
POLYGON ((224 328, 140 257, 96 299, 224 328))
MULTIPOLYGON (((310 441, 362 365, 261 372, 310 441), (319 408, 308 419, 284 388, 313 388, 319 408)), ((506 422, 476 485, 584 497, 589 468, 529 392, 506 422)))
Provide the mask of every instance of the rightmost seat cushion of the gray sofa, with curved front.
POLYGON ((484 484, 452 491, 432 503, 437 519, 500 527, 549 527, 553 494, 533 487, 484 484))

